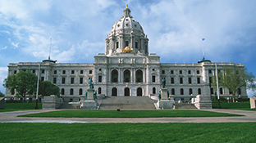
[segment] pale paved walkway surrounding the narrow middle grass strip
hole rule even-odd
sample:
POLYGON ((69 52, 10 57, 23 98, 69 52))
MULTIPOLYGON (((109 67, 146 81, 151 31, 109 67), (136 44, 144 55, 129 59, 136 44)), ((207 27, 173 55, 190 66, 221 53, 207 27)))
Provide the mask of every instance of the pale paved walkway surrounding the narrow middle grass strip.
POLYGON ((256 122, 255 111, 233 109, 202 109, 227 114, 242 114, 236 117, 200 117, 200 118, 29 118, 16 117, 21 114, 34 114, 50 109, 23 110, 15 112, 1 112, 0 123, 245 123, 256 122))

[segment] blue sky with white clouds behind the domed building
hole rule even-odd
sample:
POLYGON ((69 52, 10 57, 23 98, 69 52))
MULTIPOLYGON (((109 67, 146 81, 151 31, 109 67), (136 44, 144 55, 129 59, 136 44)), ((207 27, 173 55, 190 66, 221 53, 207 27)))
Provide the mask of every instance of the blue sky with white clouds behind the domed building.
POLYGON ((255 0, 0 0, 0 92, 7 65, 48 59, 50 38, 52 60, 93 63, 126 4, 161 63, 197 63, 203 45, 206 59, 256 75, 255 0))

